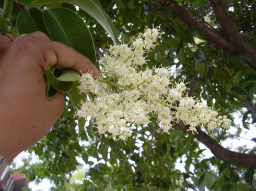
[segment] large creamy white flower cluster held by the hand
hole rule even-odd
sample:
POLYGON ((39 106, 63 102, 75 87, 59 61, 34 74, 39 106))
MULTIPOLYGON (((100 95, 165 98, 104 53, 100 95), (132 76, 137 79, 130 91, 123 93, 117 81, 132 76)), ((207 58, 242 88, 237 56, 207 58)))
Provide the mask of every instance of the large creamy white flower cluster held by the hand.
POLYGON ((77 116, 90 116, 98 133, 115 139, 130 137, 132 127, 147 125, 150 116, 157 117, 166 133, 180 120, 190 125, 193 133, 197 126, 227 128, 230 120, 217 118, 217 112, 188 97, 183 82, 171 82, 168 68, 141 69, 146 63, 145 53, 159 38, 158 29, 146 29, 131 45, 111 46, 100 60, 101 78, 93 79, 88 73, 80 77, 79 91, 94 98, 81 104, 77 116))

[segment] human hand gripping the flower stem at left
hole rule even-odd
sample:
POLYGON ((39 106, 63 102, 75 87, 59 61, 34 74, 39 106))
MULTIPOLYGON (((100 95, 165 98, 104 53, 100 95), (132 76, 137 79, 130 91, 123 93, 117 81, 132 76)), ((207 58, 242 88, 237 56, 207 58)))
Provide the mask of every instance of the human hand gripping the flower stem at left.
POLYGON ((42 32, 0 35, 0 153, 9 163, 45 136, 63 111, 61 93, 45 96, 44 72, 54 65, 99 76, 88 58, 42 32))

